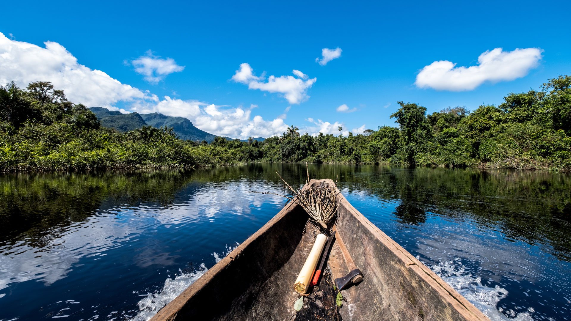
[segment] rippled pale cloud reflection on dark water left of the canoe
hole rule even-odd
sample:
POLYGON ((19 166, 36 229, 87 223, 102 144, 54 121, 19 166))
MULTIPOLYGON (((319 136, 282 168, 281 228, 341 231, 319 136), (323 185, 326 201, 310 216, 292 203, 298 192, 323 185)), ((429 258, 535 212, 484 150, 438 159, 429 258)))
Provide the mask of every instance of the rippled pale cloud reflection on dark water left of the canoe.
POLYGON ((136 247, 144 248, 134 253, 134 263, 139 267, 171 265, 178 256, 165 253, 152 239, 139 238, 139 235, 161 225, 164 228, 178 228, 190 222, 216 218, 217 215, 243 215, 249 218, 252 207, 259 208, 264 203, 283 203, 280 196, 248 192, 263 188, 262 184, 253 182, 207 183, 201 186, 199 192, 194 188, 180 191, 179 195, 187 195, 182 202, 163 207, 143 204, 136 208, 111 208, 99 211, 73 226, 55 227, 46 236, 46 245, 42 247, 31 246, 29 240, 2 246, 0 290, 9 287, 10 283, 27 280, 41 280, 45 286, 49 286, 65 278, 80 259, 96 260, 106 255, 104 252, 108 250, 133 242, 139 243, 136 247))

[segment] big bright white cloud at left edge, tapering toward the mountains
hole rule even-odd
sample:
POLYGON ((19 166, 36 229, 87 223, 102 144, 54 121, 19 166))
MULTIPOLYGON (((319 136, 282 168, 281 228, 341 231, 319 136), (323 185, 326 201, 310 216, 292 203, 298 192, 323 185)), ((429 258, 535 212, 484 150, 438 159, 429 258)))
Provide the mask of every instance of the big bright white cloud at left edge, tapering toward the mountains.
POLYGON ((0 83, 15 81, 26 86, 34 81, 50 81, 65 90, 70 101, 87 106, 111 107, 115 103, 148 99, 150 95, 124 85, 100 70, 80 65, 57 42, 46 41, 42 48, 14 41, 0 33, 0 83))

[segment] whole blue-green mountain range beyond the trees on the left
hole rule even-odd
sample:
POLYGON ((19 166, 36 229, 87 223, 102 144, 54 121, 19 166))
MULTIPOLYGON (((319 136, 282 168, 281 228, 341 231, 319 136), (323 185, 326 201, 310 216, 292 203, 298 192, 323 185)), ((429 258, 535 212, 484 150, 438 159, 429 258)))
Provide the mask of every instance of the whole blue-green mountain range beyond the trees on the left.
MULTIPOLYGON (((103 107, 91 107, 91 111, 97 116, 101 125, 112 127, 120 131, 138 129, 142 126, 150 125, 156 128, 161 126, 172 127, 180 139, 190 141, 212 142, 216 135, 206 133, 192 125, 192 122, 183 117, 165 116, 159 113, 152 114, 121 114, 119 111, 108 110, 103 107)), ((231 139, 224 137, 226 139, 231 139)))

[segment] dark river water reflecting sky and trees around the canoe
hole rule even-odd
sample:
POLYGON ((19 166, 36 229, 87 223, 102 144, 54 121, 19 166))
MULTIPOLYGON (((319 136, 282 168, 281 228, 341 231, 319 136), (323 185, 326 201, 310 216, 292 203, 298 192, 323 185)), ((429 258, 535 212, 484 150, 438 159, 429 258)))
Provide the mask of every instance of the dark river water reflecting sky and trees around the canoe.
MULTIPOLYGON (((147 320, 263 226, 300 164, 0 176, 0 321, 147 320)), ((571 320, 571 175, 310 165, 492 320, 571 320)), ((206 308, 206 307, 205 307, 206 308)))

